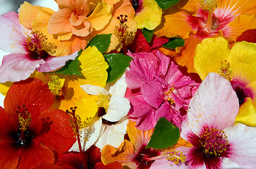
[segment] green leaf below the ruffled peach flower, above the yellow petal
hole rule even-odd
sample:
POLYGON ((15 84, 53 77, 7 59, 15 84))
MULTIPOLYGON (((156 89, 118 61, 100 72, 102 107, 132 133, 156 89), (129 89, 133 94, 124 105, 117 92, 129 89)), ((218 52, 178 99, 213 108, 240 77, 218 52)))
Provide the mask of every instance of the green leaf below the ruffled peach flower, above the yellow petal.
MULTIPOLYGON (((96 35, 93 37, 87 46, 96 46, 102 54, 109 48, 111 42, 111 34, 96 35)), ((86 46, 86 47, 87 47, 86 46)))

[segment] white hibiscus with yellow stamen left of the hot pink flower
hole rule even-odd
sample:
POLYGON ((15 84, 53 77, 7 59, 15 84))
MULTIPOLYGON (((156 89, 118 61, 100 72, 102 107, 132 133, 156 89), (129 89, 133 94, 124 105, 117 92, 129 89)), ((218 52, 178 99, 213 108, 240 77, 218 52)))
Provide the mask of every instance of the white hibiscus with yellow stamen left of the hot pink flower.
MULTIPOLYGON (((81 88, 90 94, 99 107, 92 123, 81 130, 83 150, 90 148, 92 144, 99 149, 106 144, 118 147, 126 134, 127 113, 130 109, 130 102, 124 97, 127 88, 125 77, 122 76, 112 85, 109 92, 90 84, 82 85, 81 88)), ((71 151, 78 151, 78 142, 73 145, 71 151)))

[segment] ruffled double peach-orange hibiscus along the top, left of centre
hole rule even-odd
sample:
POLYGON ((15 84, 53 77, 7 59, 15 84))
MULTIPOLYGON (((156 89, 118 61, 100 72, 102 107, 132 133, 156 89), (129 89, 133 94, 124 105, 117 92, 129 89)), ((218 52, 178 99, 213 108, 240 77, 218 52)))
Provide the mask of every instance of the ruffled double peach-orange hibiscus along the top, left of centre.
MULTIPOLYGON (((48 35, 47 37, 57 46, 58 56, 85 49, 87 42, 95 35, 114 33, 114 27, 118 25, 116 15, 128 15, 129 20, 133 20, 131 18, 134 10, 128 0, 121 3, 95 0, 56 0, 56 2, 59 5, 59 11, 56 12, 25 2, 20 6, 20 23, 28 29, 40 30, 44 35, 48 35)), ((135 21, 127 24, 131 25, 128 25, 131 27, 128 34, 133 35, 137 29, 135 21)), ((114 47, 117 45, 118 43, 114 47)))

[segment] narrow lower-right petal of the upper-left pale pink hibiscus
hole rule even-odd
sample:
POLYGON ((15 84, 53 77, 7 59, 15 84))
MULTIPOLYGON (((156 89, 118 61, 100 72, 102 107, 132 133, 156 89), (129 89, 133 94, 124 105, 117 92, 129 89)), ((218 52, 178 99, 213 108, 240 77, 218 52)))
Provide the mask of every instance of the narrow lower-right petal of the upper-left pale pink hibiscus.
POLYGON ((68 56, 48 58, 44 64, 40 65, 39 68, 37 68, 37 70, 39 72, 51 72, 57 70, 59 68, 62 68, 67 61, 75 60, 76 56, 78 56, 78 52, 75 52, 74 54, 68 56))

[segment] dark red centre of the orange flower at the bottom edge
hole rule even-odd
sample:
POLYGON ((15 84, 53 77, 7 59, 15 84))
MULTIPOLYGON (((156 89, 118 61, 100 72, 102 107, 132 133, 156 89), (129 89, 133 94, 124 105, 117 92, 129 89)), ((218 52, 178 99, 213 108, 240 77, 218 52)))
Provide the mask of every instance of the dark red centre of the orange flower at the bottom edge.
POLYGON ((135 156, 134 161, 138 163, 138 168, 147 169, 150 168, 154 160, 152 157, 159 156, 160 152, 155 149, 146 149, 145 146, 140 149, 137 156, 135 156))

